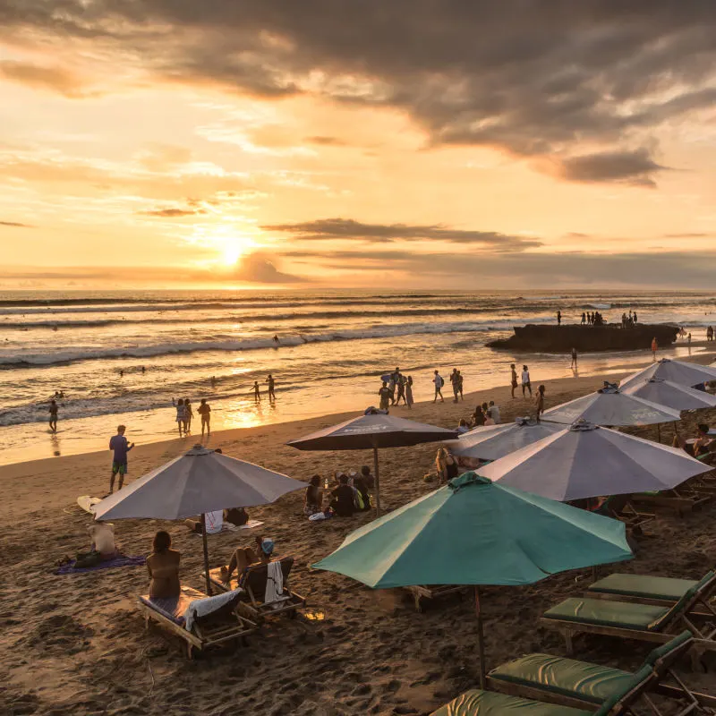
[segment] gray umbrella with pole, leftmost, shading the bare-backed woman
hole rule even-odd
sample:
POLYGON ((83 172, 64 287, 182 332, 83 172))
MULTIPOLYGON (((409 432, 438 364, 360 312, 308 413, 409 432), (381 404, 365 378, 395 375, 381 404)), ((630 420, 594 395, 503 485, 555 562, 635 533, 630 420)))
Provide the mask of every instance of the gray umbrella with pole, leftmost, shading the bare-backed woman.
MULTIPOLYGON (((205 524, 207 512, 268 505, 304 487, 305 482, 197 445, 98 502, 95 519, 181 520, 200 515, 205 524)), ((210 594, 206 529, 203 538, 210 594)))

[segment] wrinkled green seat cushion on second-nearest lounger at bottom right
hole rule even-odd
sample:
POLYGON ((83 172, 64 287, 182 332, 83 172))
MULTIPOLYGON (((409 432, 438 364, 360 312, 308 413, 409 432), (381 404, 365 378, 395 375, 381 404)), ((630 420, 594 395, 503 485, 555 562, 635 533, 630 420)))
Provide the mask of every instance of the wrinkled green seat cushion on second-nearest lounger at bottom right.
POLYGON ((490 678, 601 704, 615 692, 621 693, 634 675, 588 661, 535 653, 501 664, 490 671, 490 678))

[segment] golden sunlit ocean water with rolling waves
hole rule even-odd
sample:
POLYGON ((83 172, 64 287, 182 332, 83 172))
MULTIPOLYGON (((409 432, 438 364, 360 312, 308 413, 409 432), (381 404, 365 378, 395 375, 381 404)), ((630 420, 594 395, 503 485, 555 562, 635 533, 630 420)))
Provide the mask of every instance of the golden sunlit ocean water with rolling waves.
MULTIPOLYGON (((716 294, 0 293, 0 464, 104 449, 119 422, 138 443, 174 437, 173 397, 195 409, 207 398, 221 430, 362 410, 396 366, 413 376, 416 400, 432 396, 435 368, 446 379, 459 368, 468 392, 505 384, 510 362, 529 363, 533 381, 568 376, 564 355, 484 344, 514 325, 554 322, 558 309, 568 323, 595 308, 608 320, 632 309, 643 323, 676 322, 694 341, 716 324, 716 294), (269 372, 277 401, 256 404, 253 382, 264 390, 269 372), (55 390, 65 397, 52 435, 55 390)), ((644 354, 584 355, 580 369, 644 354)))

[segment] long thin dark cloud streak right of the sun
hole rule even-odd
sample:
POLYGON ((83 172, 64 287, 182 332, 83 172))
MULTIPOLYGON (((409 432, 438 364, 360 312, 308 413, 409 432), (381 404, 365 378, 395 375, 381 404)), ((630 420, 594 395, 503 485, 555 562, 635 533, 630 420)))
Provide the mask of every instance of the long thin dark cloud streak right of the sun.
POLYGON ((294 234, 303 241, 328 239, 358 239, 368 243, 391 243, 403 241, 444 241, 447 243, 474 243, 489 246, 493 250, 522 251, 541 246, 540 241, 522 236, 499 234, 495 231, 465 231, 434 224, 363 224, 352 218, 321 218, 299 224, 274 224, 261 226, 264 231, 280 231, 294 234))

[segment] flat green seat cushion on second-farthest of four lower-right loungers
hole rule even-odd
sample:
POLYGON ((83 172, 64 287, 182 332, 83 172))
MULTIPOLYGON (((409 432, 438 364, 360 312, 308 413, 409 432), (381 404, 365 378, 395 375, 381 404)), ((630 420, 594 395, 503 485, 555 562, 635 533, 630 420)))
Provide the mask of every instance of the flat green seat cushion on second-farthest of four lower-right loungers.
POLYGON ((544 618, 649 631, 658 626, 669 611, 648 604, 572 597, 546 611, 544 618))

